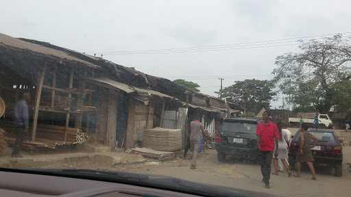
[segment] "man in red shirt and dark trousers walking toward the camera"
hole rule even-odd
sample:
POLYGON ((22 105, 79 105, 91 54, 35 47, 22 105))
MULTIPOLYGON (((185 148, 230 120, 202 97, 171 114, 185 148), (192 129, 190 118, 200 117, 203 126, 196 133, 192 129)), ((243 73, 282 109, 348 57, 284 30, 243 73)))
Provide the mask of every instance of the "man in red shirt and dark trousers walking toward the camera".
POLYGON ((274 139, 279 138, 278 127, 269 120, 269 116, 271 116, 269 112, 263 112, 262 118, 265 122, 259 123, 256 129, 257 146, 261 154, 262 182, 265 183, 267 189, 269 189, 269 179, 271 179, 271 160, 274 146, 277 147, 274 156, 278 156, 278 140, 274 142, 274 139))

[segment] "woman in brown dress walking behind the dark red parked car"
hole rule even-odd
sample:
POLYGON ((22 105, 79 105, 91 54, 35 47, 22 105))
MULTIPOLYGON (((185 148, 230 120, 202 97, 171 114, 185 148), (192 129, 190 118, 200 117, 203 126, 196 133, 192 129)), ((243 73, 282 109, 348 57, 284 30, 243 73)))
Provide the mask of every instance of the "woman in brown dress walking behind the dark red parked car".
POLYGON ((300 137, 299 137, 299 142, 300 142, 300 150, 298 153, 296 153, 296 168, 298 168, 298 174, 294 174, 293 176, 295 177, 301 177, 301 163, 306 162, 308 167, 310 168, 312 172, 312 180, 317 181, 317 177, 315 176, 315 168, 313 168, 312 161, 315 161, 313 159, 312 155, 312 150, 311 148, 315 147, 315 145, 318 143, 318 138, 315 137, 315 135, 312 135, 311 133, 307 132, 308 126, 307 124, 302 124, 300 128, 300 137), (313 145, 311 147, 311 138, 315 140, 313 142, 313 145))

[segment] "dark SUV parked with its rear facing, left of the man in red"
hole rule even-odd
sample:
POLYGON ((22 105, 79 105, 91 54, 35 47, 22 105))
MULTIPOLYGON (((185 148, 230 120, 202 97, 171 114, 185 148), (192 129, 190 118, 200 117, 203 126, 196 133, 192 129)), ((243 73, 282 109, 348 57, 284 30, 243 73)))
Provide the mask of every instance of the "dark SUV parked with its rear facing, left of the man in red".
POLYGON ((254 118, 228 118, 224 120, 217 134, 215 147, 219 161, 226 155, 258 162, 256 128, 262 120, 254 118))

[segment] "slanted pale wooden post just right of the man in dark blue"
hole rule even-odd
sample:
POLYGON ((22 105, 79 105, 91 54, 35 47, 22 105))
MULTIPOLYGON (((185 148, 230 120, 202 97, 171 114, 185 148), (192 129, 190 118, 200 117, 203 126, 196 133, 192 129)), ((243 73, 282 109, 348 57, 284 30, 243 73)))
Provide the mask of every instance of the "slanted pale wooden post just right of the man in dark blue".
POLYGON ((41 90, 43 89, 43 82, 45 77, 45 72, 47 70, 47 62, 45 62, 43 69, 38 75, 38 81, 36 83, 36 101, 34 104, 34 114, 33 114, 33 131, 32 131, 32 141, 36 141, 36 127, 38 126, 38 113, 40 105, 41 90))

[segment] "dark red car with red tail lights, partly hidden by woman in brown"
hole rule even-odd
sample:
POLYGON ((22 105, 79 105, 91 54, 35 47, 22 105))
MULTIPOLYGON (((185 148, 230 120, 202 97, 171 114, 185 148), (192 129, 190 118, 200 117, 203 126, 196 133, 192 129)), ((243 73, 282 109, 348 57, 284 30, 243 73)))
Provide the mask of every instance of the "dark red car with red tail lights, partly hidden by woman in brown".
MULTIPOLYGON (((308 129, 308 132, 318 138, 318 143, 312 149, 314 166, 332 166, 335 168, 335 176, 342 175, 343 151, 342 140, 339 140, 335 132, 331 129, 308 129)), ((295 167, 296 153, 299 150, 301 131, 293 136, 289 150, 289 163, 291 167, 295 167)), ((311 144, 314 140, 311 139, 311 144)))

